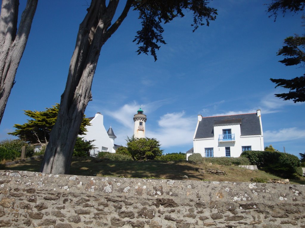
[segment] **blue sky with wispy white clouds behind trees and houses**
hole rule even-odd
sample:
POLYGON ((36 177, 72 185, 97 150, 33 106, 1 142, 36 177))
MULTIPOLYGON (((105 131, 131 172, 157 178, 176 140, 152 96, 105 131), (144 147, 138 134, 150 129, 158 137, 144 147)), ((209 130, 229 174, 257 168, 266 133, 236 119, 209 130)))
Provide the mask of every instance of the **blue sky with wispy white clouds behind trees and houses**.
MULTIPOLYGON (((25 0, 20 7, 24 7, 25 0)), ((0 126, 0 140, 12 138, 13 125, 27 121, 23 110, 42 111, 60 102, 78 26, 89 1, 39 1, 0 126)), ((123 1, 124 2, 124 1, 123 1)), ((290 79, 303 68, 286 67, 276 53, 287 36, 303 34, 301 14, 266 12, 271 0, 212 1, 218 16, 192 33, 192 15, 164 26, 166 45, 158 60, 137 55, 132 43, 140 28, 129 12, 102 47, 86 116, 104 115, 116 144, 133 134, 133 115, 140 105, 147 115, 146 136, 160 140, 165 153, 192 147, 197 115, 254 113, 261 109, 264 144, 298 155, 305 152, 305 103, 283 101, 269 78, 290 79)))

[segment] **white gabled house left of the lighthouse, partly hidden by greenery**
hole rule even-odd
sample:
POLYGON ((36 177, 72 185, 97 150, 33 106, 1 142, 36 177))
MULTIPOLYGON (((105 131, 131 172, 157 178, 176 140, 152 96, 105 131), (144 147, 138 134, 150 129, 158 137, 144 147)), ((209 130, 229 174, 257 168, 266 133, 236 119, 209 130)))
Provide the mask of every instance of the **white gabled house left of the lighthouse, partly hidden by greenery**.
MULTIPOLYGON (((88 118, 91 119, 90 126, 86 126, 87 132, 85 135, 81 135, 80 137, 84 137, 84 140, 95 140, 92 144, 97 147, 95 150, 98 151, 107 151, 111 153, 115 153, 117 149, 117 145, 114 144, 114 139, 117 137, 113 133, 113 130, 110 126, 109 130, 106 131, 104 127, 104 117, 98 112, 95 114, 95 117, 88 118)), ((90 152, 90 155, 97 155, 97 152, 90 152)))

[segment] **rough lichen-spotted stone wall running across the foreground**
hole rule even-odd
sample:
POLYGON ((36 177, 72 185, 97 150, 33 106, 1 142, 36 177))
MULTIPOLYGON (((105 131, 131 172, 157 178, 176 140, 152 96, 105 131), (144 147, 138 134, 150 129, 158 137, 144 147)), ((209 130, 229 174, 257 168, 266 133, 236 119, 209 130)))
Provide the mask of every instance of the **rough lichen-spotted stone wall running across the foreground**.
POLYGON ((305 186, 0 171, 0 227, 305 227, 305 186))

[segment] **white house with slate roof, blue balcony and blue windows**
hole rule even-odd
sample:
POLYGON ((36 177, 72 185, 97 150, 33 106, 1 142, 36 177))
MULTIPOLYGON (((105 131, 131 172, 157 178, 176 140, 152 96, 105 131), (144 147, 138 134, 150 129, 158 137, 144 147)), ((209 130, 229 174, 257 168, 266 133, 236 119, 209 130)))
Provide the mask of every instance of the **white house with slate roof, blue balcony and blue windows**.
POLYGON ((202 157, 239 157, 244 150, 264 150, 260 110, 256 113, 202 117, 193 137, 193 153, 202 157))

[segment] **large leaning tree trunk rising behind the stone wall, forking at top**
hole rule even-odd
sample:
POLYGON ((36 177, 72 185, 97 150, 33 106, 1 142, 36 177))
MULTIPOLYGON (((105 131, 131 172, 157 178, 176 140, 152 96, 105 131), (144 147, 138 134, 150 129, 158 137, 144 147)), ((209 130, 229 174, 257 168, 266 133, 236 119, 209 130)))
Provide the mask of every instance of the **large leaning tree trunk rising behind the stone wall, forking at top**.
POLYGON ((71 58, 66 88, 61 96, 59 112, 52 128, 41 172, 67 174, 73 148, 84 111, 91 100, 91 84, 103 44, 127 16, 132 0, 111 26, 119 0, 92 0, 80 24, 76 46, 71 58))

